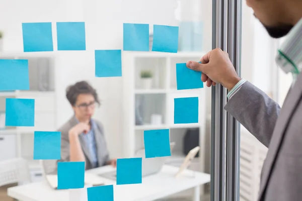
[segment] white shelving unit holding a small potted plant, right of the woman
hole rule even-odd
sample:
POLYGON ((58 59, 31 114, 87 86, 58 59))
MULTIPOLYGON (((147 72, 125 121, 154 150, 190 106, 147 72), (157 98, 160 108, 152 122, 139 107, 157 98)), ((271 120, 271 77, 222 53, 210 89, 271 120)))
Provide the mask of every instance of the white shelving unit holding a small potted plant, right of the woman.
MULTIPOLYGON (((170 141, 176 142, 168 162, 180 163, 184 160, 182 139, 187 129, 199 129, 199 157, 194 159, 196 170, 204 171, 205 144, 205 91, 201 89, 177 90, 176 63, 188 60, 199 61, 202 52, 123 52, 123 103, 124 103, 124 157, 133 157, 144 147, 143 131, 170 129, 170 141), (142 88, 140 72, 149 70, 153 74, 152 88, 142 88), (195 124, 174 124, 174 98, 199 98, 199 122, 195 124), (143 124, 136 123, 136 108, 140 105, 143 124), (161 124, 152 124, 150 116, 162 116, 161 124)), ((180 165, 179 164, 179 165, 180 165)))

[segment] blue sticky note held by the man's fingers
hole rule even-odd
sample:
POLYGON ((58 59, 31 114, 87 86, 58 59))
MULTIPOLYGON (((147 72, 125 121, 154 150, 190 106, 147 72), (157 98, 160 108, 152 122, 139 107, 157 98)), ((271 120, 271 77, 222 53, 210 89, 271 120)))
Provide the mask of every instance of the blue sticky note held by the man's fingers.
POLYGON ((187 68, 186 63, 176 64, 177 90, 203 88, 201 72, 187 68))

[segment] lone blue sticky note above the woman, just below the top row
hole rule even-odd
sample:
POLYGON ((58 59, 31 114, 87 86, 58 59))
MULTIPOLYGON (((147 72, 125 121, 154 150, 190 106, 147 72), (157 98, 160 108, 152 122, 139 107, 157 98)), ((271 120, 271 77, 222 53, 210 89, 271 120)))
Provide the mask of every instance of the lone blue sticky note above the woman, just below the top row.
POLYGON ((96 50, 95 65, 96 77, 122 76, 121 50, 96 50))

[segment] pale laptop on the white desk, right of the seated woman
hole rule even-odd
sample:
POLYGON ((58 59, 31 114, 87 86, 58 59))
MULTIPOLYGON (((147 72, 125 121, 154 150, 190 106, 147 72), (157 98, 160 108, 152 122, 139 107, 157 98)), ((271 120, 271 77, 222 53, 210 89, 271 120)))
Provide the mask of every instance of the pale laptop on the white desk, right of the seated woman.
MULTIPOLYGON (((175 146, 175 142, 170 143, 170 150, 172 154, 172 150, 175 146)), ((136 152, 135 158, 142 158, 141 160, 141 176, 148 176, 152 174, 156 174, 159 171, 161 171, 162 167, 164 166, 165 162, 167 161, 169 156, 165 157, 155 157, 155 158, 145 158, 145 150, 140 149, 136 152)), ((107 179, 112 179, 116 180, 116 170, 106 172, 99 174, 99 176, 107 178, 107 179)))

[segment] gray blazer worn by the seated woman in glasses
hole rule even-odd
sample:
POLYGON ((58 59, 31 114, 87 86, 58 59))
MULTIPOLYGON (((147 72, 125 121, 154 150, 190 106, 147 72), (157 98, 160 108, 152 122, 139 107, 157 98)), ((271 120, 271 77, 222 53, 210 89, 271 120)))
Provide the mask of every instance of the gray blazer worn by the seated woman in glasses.
MULTIPOLYGON (((98 162, 99 162, 99 166, 103 166, 103 165, 106 165, 106 163, 109 161, 109 152, 108 152, 106 141, 105 141, 103 125, 99 121, 94 120, 94 122, 97 125, 97 128, 95 129, 94 132, 95 132, 98 162)), ((70 161, 68 132, 73 126, 75 126, 77 124, 78 124, 78 121, 73 116, 64 125, 62 125, 58 129, 58 131, 61 132, 61 159, 55 161, 55 165, 52 168, 52 170, 48 170, 48 171, 46 171, 46 173, 56 174, 58 162, 70 161)), ((92 168, 92 156, 91 156, 89 148, 85 142, 84 136, 79 135, 79 140, 80 140, 82 150, 85 155, 85 168, 91 169, 92 168)), ((50 163, 45 161, 44 166, 47 166, 47 164, 50 164, 50 163)), ((45 169, 47 170, 49 168, 46 167, 45 169)))

